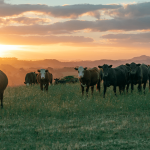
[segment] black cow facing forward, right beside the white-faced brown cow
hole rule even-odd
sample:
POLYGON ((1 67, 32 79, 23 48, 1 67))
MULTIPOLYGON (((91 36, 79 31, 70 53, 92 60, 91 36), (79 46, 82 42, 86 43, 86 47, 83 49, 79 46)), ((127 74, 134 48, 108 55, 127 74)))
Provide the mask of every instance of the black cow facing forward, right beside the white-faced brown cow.
POLYGON ((119 67, 111 68, 112 65, 104 64, 103 66, 98 66, 99 68, 103 69, 103 86, 104 86, 104 95, 107 87, 113 85, 113 90, 116 95, 116 86, 119 86, 119 91, 121 94, 121 90, 124 91, 125 84, 126 84, 126 78, 123 69, 120 69, 119 67))

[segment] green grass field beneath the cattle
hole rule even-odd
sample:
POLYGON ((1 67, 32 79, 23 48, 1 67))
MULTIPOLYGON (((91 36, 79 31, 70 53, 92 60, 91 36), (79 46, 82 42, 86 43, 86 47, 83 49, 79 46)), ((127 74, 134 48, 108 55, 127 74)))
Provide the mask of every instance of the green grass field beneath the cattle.
MULTIPOLYGON (((130 91, 130 90, 129 90, 130 91)), ((7 87, 0 150, 149 150, 150 93, 81 96, 79 83, 7 87)))

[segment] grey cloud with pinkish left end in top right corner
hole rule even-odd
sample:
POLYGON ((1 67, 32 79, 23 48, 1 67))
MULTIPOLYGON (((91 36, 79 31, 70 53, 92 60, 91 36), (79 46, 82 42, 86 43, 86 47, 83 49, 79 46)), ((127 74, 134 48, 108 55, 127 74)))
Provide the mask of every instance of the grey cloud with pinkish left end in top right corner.
POLYGON ((150 16, 150 2, 127 4, 115 10, 106 10, 105 14, 119 18, 135 18, 150 16))

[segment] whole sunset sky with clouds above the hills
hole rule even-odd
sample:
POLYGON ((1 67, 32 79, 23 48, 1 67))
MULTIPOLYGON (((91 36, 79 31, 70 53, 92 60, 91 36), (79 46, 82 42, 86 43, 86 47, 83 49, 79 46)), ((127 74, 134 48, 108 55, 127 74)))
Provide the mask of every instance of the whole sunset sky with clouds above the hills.
POLYGON ((150 1, 0 0, 0 57, 150 56, 150 1))

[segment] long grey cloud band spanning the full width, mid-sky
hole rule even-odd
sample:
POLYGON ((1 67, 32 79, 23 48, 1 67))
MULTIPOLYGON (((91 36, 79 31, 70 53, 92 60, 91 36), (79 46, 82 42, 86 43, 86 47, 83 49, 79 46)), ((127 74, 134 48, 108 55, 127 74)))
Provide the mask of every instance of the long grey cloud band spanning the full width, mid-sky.
POLYGON ((150 29, 150 17, 134 19, 111 19, 96 21, 70 20, 50 25, 6 26, 0 28, 0 34, 61 34, 73 33, 78 30, 90 29, 93 32, 112 30, 136 31, 150 29))

